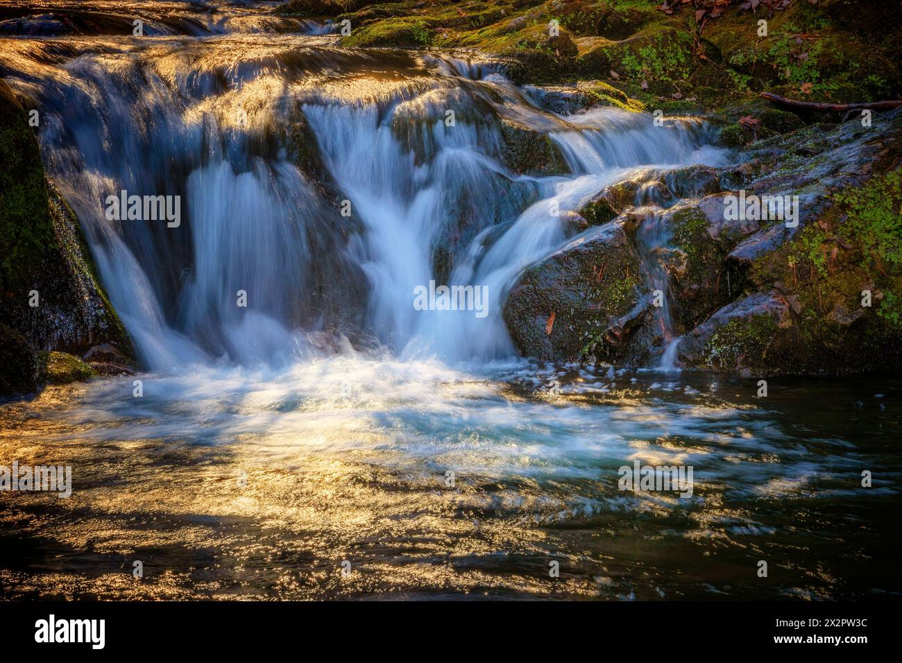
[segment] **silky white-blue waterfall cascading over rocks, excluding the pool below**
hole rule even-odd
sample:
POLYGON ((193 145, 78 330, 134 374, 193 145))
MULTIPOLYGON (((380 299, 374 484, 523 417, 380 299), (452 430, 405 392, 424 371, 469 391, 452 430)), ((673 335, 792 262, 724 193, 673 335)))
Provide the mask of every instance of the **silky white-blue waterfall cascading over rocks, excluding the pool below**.
MULTIPOLYGON (((497 66, 243 39, 100 39, 54 64, 36 62, 40 48, 6 56, 7 78, 44 109, 48 170, 152 369, 293 361, 334 334, 406 358, 510 358, 507 293, 572 239, 553 210, 649 168, 723 161, 697 120, 555 115, 497 66), (512 171, 504 123, 548 135, 569 173, 512 171), (180 225, 106 218, 120 190, 179 196, 180 225), (486 315, 415 309, 414 291, 437 279, 484 288, 486 315)), ((667 292, 657 218, 639 240, 650 285, 667 292)), ((670 344, 667 305, 659 317, 670 344)))

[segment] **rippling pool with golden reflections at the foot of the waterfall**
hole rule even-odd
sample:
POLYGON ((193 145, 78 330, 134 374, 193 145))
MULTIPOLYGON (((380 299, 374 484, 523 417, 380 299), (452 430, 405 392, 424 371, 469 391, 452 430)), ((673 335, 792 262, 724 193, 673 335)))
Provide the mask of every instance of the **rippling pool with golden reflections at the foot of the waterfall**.
POLYGON ((902 591, 895 379, 758 398, 707 373, 348 353, 143 381, 141 399, 122 379, 0 406, 0 457, 73 466, 69 499, 4 494, 7 597, 902 591), (692 465, 692 497, 620 491, 634 460, 692 465))

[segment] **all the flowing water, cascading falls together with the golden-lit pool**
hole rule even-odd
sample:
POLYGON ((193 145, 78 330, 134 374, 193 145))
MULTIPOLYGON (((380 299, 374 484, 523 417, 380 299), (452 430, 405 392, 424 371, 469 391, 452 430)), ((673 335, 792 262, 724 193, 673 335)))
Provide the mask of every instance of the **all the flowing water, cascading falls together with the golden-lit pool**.
POLYGON ((504 328, 520 272, 574 239, 551 203, 741 158, 704 123, 553 115, 490 63, 344 51, 261 3, 178 20, 170 5, 145 5, 151 39, 0 51, 152 371, 140 397, 128 377, 0 405, 0 464, 74 475, 68 499, 0 495, 6 597, 902 591, 896 380, 771 380, 759 398, 667 353, 668 371, 530 363, 504 328), (299 114, 329 190, 291 152, 299 114), (548 134, 570 174, 508 170, 502 120, 548 134), (123 188, 179 194, 182 226, 111 223, 101 201, 123 188), (412 307, 437 245, 449 283, 489 287, 487 317, 412 307), (621 491, 634 461, 692 466, 692 496, 621 491))

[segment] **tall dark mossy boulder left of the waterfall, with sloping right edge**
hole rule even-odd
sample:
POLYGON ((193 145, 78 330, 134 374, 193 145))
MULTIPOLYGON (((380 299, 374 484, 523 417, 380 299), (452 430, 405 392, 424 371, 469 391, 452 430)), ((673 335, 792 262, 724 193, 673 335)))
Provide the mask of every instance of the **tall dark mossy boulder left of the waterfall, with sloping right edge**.
POLYGON ((0 319, 32 350, 131 343, 78 219, 47 180, 25 109, 0 80, 0 319))

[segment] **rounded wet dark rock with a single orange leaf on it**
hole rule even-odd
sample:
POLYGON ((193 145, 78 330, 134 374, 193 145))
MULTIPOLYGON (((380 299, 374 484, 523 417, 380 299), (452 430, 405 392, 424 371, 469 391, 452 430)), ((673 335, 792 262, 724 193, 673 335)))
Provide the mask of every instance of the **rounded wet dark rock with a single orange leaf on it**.
POLYGON ((639 256, 623 227, 610 223, 524 272, 508 296, 504 321, 524 356, 616 356, 647 310, 640 286, 639 256))

